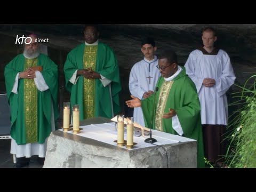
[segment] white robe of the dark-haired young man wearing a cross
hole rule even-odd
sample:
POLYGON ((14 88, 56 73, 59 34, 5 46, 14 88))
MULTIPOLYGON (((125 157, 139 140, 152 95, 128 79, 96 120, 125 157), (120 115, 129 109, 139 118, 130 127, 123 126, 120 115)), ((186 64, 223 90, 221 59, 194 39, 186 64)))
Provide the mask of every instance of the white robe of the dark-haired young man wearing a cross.
MULTIPOLYGON (((158 59, 156 56, 151 61, 144 58, 134 64, 129 78, 129 89, 133 96, 142 99, 146 91, 155 91, 157 80, 161 76, 159 69, 156 67, 157 65, 158 59)), ((134 108, 133 117, 135 122, 145 126, 141 107, 134 108)))

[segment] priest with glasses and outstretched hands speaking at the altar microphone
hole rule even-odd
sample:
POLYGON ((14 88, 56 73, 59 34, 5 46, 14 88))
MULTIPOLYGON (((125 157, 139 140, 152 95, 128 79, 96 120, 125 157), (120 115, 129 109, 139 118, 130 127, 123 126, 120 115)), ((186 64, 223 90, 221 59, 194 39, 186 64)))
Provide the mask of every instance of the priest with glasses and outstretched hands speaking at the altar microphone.
POLYGON ((161 77, 155 93, 144 100, 134 97, 126 101, 128 107, 140 107, 146 127, 197 141, 197 167, 204 167, 204 151, 200 116, 200 102, 196 86, 178 66, 177 55, 164 50, 158 57, 161 77))

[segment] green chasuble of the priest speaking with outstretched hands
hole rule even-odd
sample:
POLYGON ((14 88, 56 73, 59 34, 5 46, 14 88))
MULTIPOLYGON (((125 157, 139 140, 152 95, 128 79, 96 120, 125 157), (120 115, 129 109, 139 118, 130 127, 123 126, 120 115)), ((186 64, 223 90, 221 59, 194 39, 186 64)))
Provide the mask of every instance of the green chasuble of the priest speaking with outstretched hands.
POLYGON ((200 102, 196 86, 187 76, 182 67, 180 74, 172 81, 165 81, 161 76, 156 87, 156 103, 153 106, 155 94, 141 100, 141 107, 146 127, 171 134, 178 134, 172 128, 172 118, 162 118, 163 113, 169 112, 169 108, 177 112, 179 122, 183 130, 183 137, 197 140, 197 167, 204 167, 203 135, 200 115, 200 102), (161 95, 161 97, 159 97, 161 95), (155 109, 155 111, 154 111, 155 109), (154 114, 153 114, 154 113, 154 114), (151 118, 153 117, 153 126, 151 118))

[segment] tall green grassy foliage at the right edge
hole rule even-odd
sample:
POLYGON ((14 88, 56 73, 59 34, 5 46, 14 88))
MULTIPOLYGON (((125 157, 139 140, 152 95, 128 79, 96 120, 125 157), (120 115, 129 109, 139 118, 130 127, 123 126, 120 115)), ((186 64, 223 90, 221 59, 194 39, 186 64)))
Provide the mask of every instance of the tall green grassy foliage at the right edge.
POLYGON ((228 125, 229 129, 233 127, 227 137, 230 141, 226 155, 228 167, 256 167, 255 77, 255 75, 250 77, 243 87, 236 85, 242 91, 234 93, 239 100, 232 105, 241 105, 242 103, 243 107, 233 114, 235 118, 228 125), (252 79, 253 82, 249 85, 248 82, 252 79))

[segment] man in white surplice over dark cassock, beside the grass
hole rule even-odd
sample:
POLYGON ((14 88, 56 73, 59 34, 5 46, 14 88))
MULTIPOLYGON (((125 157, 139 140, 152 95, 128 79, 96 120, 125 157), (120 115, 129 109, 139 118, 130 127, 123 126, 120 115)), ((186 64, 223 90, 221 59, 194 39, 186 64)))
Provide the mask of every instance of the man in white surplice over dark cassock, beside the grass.
POLYGON ((214 47, 216 31, 204 28, 202 41, 204 46, 190 53, 185 68, 196 85, 201 103, 205 157, 218 165, 225 155, 222 137, 228 119, 226 92, 236 77, 228 54, 214 47))

